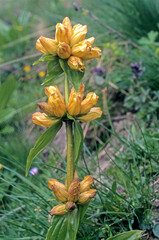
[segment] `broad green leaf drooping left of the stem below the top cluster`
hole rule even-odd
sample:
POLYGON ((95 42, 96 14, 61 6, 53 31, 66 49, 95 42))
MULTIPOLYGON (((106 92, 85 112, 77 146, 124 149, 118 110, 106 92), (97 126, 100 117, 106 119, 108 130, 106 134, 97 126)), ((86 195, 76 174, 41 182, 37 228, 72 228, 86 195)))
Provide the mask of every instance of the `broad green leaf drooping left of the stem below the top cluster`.
POLYGON ((54 59, 53 61, 49 61, 47 65, 47 75, 42 85, 48 85, 52 83, 52 81, 57 79, 59 75, 62 73, 63 73, 63 70, 60 67, 60 64, 57 58, 54 59))

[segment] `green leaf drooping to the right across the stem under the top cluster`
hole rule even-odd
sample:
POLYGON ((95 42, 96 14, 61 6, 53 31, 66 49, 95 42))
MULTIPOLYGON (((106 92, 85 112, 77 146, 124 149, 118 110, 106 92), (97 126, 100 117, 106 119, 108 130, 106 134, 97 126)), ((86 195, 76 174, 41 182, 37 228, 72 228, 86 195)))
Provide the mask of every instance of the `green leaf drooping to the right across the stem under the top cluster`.
POLYGON ((80 72, 78 70, 71 69, 67 64, 67 60, 59 59, 59 62, 61 68, 67 75, 68 80, 73 84, 74 88, 78 92, 80 89, 81 80, 84 76, 84 71, 80 72))

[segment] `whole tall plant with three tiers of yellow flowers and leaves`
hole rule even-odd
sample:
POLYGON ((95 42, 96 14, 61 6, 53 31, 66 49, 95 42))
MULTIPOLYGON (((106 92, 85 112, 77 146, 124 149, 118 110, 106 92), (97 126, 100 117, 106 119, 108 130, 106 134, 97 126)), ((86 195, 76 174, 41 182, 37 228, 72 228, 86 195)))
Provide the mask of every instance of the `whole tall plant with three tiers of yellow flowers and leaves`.
POLYGON ((55 39, 41 36, 36 42, 36 48, 44 55, 34 64, 47 61, 47 75, 43 85, 47 102, 38 104, 41 112, 32 115, 34 124, 48 129, 40 136, 30 150, 26 175, 34 158, 51 142, 62 124, 66 126, 67 134, 67 176, 64 183, 50 179, 48 187, 59 201, 53 206, 50 214, 53 216, 46 240, 74 240, 78 227, 86 212, 89 201, 97 190, 91 189, 93 176, 79 180, 76 171, 79 155, 83 146, 83 131, 80 122, 88 122, 100 118, 102 111, 97 104, 98 96, 90 92, 84 98, 85 86, 81 83, 84 75, 85 60, 100 58, 101 50, 93 47, 94 37, 85 39, 87 26, 77 24, 72 27, 66 17, 56 25, 55 39), (50 85, 53 80, 64 73, 64 97, 58 86, 50 85), (70 83, 73 85, 70 90, 70 83))

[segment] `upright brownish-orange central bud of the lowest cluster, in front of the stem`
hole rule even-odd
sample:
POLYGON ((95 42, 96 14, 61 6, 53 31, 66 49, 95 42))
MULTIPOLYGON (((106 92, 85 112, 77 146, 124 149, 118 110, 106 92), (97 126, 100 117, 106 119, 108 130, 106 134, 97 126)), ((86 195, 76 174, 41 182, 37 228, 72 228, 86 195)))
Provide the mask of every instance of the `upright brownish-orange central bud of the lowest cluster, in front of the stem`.
POLYGON ((68 189, 68 201, 77 202, 80 193, 80 181, 78 178, 75 178, 69 186, 68 189))

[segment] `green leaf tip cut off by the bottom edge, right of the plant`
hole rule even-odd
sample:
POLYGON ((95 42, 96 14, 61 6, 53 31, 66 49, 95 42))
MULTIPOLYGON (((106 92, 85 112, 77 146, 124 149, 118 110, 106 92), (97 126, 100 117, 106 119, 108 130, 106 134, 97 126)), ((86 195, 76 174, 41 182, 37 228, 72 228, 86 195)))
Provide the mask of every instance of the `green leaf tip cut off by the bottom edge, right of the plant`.
POLYGON ((107 238, 107 240, 138 240, 142 237, 144 231, 133 230, 129 232, 119 233, 113 237, 107 238))

